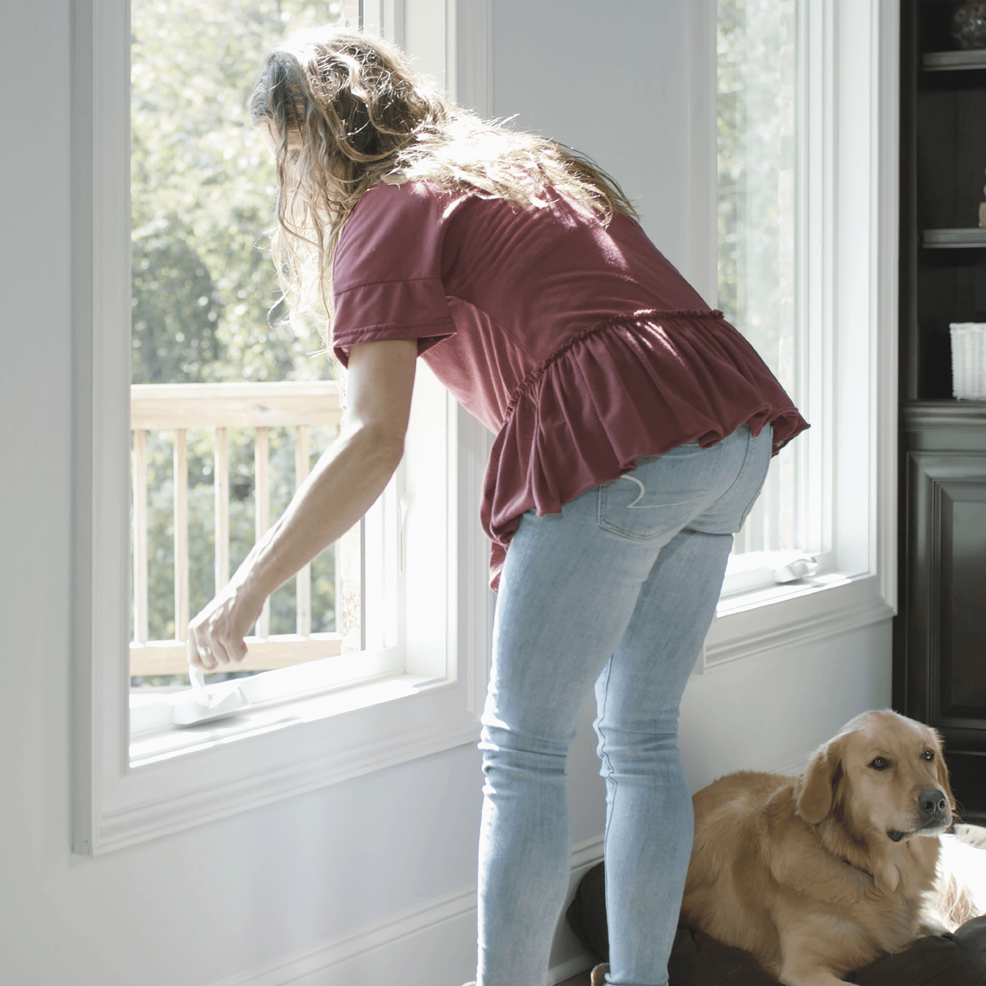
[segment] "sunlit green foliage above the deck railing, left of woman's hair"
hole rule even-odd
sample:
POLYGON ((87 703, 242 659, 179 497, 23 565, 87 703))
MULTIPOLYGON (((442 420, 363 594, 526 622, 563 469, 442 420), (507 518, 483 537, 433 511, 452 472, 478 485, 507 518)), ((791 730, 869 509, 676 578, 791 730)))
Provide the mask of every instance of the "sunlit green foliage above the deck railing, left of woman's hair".
POLYGON ((278 305, 263 249, 276 176, 247 103, 266 50, 336 20, 332 6, 134 0, 134 383, 330 376, 307 356, 319 340, 298 338, 278 305))

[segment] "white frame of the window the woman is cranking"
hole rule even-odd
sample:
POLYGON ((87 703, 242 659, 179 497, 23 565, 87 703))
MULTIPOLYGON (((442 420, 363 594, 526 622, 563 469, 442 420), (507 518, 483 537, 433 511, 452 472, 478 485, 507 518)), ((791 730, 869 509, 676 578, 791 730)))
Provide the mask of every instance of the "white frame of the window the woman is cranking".
MULTIPOLYGON (((131 765, 129 7, 72 8, 73 849, 94 855, 477 740, 493 613, 475 522, 489 440, 419 365, 402 547, 398 507, 385 504, 403 556, 401 673, 299 696, 274 716, 250 711, 235 736, 218 729, 181 755, 131 765)), ((412 27, 427 37, 418 62, 433 76, 455 65, 444 5, 368 0, 364 16, 397 40, 412 27)))

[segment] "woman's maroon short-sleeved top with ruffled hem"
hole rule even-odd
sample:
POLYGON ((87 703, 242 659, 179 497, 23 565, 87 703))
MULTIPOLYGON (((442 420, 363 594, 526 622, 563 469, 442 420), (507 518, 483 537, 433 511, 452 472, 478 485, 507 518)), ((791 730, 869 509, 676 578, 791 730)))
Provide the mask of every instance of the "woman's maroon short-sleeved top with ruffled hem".
POLYGON ((480 517, 494 588, 528 510, 558 513, 635 458, 748 422, 774 452, 808 427, 752 346, 627 216, 531 212, 415 181, 376 185, 342 232, 333 346, 416 339, 496 433, 480 517))

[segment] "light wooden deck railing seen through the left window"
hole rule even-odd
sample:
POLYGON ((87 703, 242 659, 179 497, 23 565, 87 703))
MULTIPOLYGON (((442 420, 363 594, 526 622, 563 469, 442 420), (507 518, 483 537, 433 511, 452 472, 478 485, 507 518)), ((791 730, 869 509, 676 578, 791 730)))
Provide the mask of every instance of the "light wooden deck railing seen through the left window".
MULTIPOLYGON (((270 526, 269 429, 294 428, 295 488, 309 473, 309 429, 338 426, 342 412, 338 385, 332 382, 284 384, 166 384, 130 388, 130 427, 133 432, 133 614, 130 673, 180 674, 186 669, 188 632, 188 460, 189 428, 213 431, 215 491, 215 585, 230 580, 230 465, 229 428, 252 428, 254 465, 254 528, 261 537, 270 526), (175 508, 175 640, 151 641, 148 606, 147 433, 173 432, 175 508)), ((249 653, 238 670, 283 668, 358 650, 360 638, 359 526, 337 542, 337 633, 312 633, 312 575, 306 565, 295 583, 294 634, 270 634, 270 603, 256 622, 256 637, 248 638, 249 653)))

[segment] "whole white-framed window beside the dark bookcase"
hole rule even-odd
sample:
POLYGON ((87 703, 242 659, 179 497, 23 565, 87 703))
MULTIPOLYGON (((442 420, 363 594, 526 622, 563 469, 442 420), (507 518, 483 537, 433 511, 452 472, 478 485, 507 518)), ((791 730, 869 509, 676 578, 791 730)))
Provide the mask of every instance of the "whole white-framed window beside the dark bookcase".
POLYGON ((714 10, 719 307, 811 428, 737 537, 706 667, 885 619, 895 594, 897 14, 714 10))

